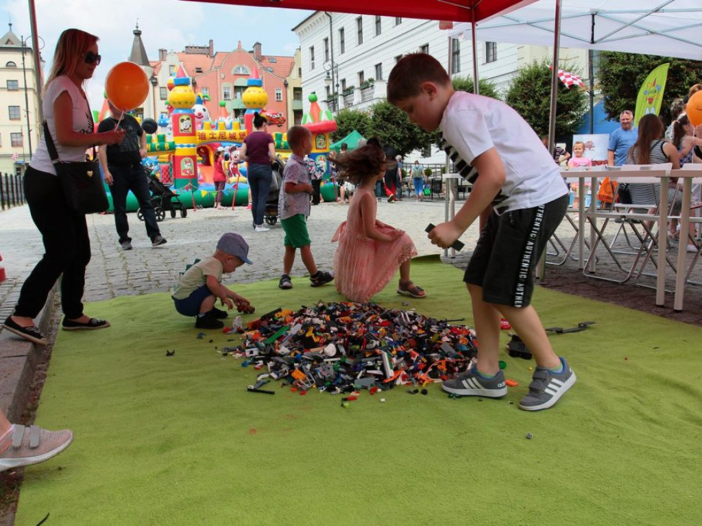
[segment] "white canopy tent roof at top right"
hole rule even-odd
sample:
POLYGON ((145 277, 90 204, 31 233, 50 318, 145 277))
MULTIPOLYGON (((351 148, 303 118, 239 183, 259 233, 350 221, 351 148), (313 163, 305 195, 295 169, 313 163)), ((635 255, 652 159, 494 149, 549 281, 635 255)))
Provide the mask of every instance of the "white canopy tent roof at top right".
MULTIPOLYGON (((701 0, 562 0, 560 46, 702 60, 701 0)), ((479 41, 551 46, 555 1, 477 22, 479 41)), ((469 39, 470 24, 454 35, 469 39)))

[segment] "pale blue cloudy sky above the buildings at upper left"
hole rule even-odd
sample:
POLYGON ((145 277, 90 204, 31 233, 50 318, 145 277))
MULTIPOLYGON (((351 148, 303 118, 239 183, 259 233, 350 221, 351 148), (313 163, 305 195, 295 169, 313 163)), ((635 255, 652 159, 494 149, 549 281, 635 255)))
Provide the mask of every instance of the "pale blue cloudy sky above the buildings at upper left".
MULTIPOLYGON (((264 55, 293 55, 300 41, 292 28, 312 11, 280 8, 223 6, 181 0, 35 0, 41 57, 45 76, 51 69, 58 36, 77 27, 100 37, 102 62, 88 81, 88 99, 93 109, 102 106, 105 76, 110 68, 128 59, 133 29, 138 22, 149 60, 157 60, 159 48, 183 51, 185 46, 207 46, 215 51, 241 46, 250 50, 256 41, 264 55)), ((0 0, 4 31, 8 22, 17 36, 29 36, 27 0, 0 0)), ((1 32, 0 34, 4 34, 1 32)), ((29 43, 31 46, 31 41, 29 43)))

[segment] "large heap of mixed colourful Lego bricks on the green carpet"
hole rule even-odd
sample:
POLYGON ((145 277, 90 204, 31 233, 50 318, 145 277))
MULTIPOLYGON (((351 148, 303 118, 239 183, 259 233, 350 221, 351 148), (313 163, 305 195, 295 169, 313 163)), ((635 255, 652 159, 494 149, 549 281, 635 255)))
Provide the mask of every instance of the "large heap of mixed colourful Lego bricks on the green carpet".
POLYGON ((273 380, 301 393, 425 386, 467 370, 477 354, 465 325, 351 302, 276 309, 250 322, 244 342, 229 350, 244 367, 267 368, 249 391, 270 394, 261 388, 273 380))

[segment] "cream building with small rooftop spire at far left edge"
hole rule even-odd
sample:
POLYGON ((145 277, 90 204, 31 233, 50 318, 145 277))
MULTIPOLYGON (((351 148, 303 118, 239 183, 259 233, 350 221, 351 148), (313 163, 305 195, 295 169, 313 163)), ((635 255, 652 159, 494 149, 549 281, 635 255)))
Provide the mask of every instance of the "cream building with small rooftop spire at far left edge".
POLYGON ((10 25, 10 30, 0 37, 1 173, 22 173, 30 152, 39 144, 36 86, 32 48, 23 45, 10 25))

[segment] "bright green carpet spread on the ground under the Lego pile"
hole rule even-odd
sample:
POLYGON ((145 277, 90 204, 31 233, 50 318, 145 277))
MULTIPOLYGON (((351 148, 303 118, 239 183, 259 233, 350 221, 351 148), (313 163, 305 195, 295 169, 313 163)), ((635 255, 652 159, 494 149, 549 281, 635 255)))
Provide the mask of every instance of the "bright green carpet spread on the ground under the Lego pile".
MULTIPOLYGON (((412 268, 428 298, 406 308, 472 325, 461 271, 412 268)), ((341 299, 293 285, 232 288, 257 313, 341 299)), ((392 285, 375 299, 406 300, 392 285)), ((701 330, 543 289, 534 304, 547 327, 596 322, 550 337, 578 382, 536 413, 517 408, 534 363, 506 353, 519 386, 502 400, 397 386, 344 409, 277 384, 247 392, 257 372, 216 349, 230 337, 197 339, 168 295, 90 304, 112 327, 61 332, 37 414, 76 438, 26 469, 16 524, 46 513, 48 525, 699 524, 701 330)))

